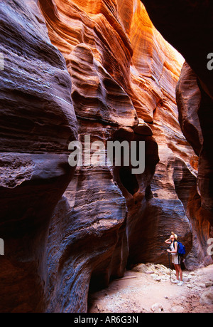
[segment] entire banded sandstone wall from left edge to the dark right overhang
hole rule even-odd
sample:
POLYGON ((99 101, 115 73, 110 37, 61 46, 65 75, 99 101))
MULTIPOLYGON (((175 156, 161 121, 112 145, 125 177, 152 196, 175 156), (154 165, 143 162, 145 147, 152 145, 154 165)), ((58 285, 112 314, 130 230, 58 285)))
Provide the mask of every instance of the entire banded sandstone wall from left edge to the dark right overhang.
POLYGON ((188 269, 212 263, 196 76, 141 1, 4 0, 0 14, 0 312, 87 312, 89 287, 168 264, 172 230, 188 269), (144 172, 70 167, 85 135, 104 156, 109 140, 145 141, 144 172))

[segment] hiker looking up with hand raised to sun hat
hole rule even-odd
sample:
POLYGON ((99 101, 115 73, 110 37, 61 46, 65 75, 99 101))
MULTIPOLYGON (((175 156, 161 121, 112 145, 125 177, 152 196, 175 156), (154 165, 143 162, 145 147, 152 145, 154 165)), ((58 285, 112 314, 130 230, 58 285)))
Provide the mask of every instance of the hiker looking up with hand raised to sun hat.
POLYGON ((178 236, 175 233, 171 233, 170 238, 165 240, 166 244, 170 244, 170 250, 168 253, 172 254, 172 262, 175 266, 176 278, 175 283, 178 283, 178 286, 182 286, 182 269, 180 268, 180 258, 178 257, 178 236), (180 276, 180 280, 179 280, 180 276))

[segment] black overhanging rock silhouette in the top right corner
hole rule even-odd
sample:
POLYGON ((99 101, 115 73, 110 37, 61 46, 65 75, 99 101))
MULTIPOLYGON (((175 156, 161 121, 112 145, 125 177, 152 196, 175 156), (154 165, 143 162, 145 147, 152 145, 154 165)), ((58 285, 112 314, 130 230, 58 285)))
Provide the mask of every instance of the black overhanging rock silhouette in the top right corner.
POLYGON ((212 29, 212 2, 142 2, 155 28, 182 54, 202 83, 202 88, 212 98, 212 72, 207 69, 207 54, 211 52, 208 32, 212 29))

